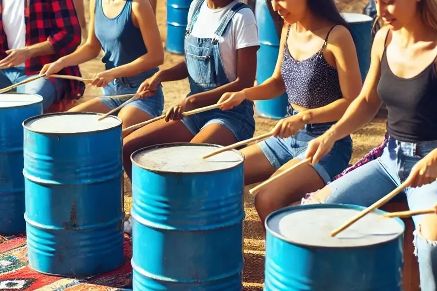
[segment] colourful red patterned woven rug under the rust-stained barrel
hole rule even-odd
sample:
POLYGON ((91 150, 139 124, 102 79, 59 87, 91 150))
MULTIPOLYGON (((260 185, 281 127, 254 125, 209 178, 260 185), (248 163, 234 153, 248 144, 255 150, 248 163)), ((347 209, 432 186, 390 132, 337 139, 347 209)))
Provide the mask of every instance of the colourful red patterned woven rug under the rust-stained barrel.
POLYGON ((123 266, 115 271, 88 279, 47 276, 31 270, 27 260, 26 237, 0 238, 1 291, 127 291, 132 290, 132 240, 124 237, 123 266))

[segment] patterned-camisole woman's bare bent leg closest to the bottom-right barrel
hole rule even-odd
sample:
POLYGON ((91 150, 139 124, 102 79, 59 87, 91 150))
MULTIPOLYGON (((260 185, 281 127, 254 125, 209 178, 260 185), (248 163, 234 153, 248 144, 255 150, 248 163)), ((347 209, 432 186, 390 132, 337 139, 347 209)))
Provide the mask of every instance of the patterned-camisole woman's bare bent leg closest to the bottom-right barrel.
MULTIPOLYGON (((273 176, 298 162, 298 159, 289 161, 279 168, 273 176)), ((255 208, 263 227, 264 221, 270 213, 295 203, 306 193, 314 192, 323 186, 325 186, 323 179, 312 166, 307 164, 299 166, 266 185, 255 197, 255 208)))

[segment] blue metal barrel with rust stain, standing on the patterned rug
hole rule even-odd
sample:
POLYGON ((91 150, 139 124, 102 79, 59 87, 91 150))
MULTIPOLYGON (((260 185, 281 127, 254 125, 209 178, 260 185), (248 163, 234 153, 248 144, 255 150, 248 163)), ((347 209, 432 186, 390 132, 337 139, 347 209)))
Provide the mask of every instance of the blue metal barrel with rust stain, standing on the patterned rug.
POLYGON ((23 122, 29 266, 87 276, 123 263, 121 120, 56 113, 23 122))

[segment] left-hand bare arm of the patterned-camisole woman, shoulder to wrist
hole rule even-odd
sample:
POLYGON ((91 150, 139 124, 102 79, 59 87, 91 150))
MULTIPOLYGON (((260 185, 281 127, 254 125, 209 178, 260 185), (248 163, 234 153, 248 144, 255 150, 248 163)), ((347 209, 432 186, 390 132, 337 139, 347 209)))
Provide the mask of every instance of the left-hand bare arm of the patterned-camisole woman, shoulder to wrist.
MULTIPOLYGON (((284 45, 287 41, 287 26, 282 28, 281 41, 279 44, 279 54, 276 61, 275 71, 273 75, 265 80, 262 84, 255 87, 244 89, 246 99, 248 100, 268 100, 274 99, 285 92, 284 79, 281 75, 282 58, 284 56, 284 45)), ((232 92, 232 90, 229 90, 232 92)))

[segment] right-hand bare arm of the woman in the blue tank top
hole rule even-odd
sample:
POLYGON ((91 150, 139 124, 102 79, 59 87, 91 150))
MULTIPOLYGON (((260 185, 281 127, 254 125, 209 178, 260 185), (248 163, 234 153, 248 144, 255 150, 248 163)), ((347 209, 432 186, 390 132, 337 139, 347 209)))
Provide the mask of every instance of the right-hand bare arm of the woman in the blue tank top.
POLYGON ((132 11, 147 47, 147 54, 133 62, 111 69, 115 77, 135 76, 164 62, 164 49, 158 24, 149 0, 133 0, 132 11))

